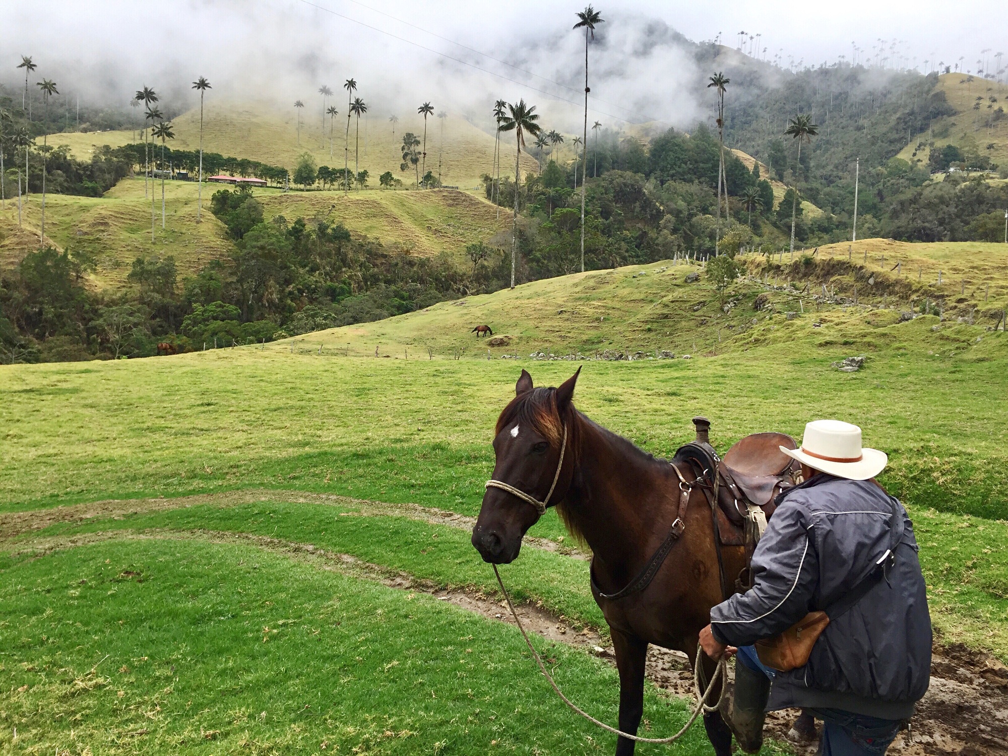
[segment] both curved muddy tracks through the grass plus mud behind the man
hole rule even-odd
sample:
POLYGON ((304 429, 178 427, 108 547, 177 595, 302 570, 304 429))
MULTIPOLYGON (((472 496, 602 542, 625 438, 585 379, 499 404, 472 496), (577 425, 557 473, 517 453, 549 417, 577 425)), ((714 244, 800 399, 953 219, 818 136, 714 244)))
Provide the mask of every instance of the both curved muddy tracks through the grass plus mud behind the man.
MULTIPOLYGON (((178 499, 144 499, 136 501, 95 502, 73 507, 34 512, 0 514, 0 544, 3 540, 24 536, 31 531, 55 522, 80 522, 95 517, 121 517, 126 513, 150 511, 161 508, 216 503, 222 506, 248 501, 295 501, 332 503, 353 506, 358 516, 399 515, 413 519, 436 522, 456 527, 471 528, 473 518, 452 512, 432 510, 416 505, 386 505, 363 502, 344 497, 284 494, 283 492, 242 492, 236 494, 195 496, 178 499)), ((260 547, 282 551, 295 558, 308 559, 321 569, 334 570, 359 578, 376 580, 391 588, 423 592, 468 611, 500 622, 514 624, 506 603, 500 598, 466 591, 444 591, 404 573, 390 571, 376 564, 362 562, 354 556, 327 552, 313 545, 295 543, 262 536, 210 531, 148 531, 145 533, 93 533, 82 536, 41 539, 28 538, 14 548, 44 553, 56 548, 106 538, 205 538, 218 542, 254 542, 260 547)), ((553 541, 529 539, 528 545, 549 550, 562 550, 553 541)), ((13 545, 13 544, 11 544, 13 545)), ((571 552, 575 556, 584 556, 571 552)), ((615 664, 612 648, 594 630, 577 631, 558 617, 541 607, 521 605, 518 614, 526 630, 552 641, 586 649, 615 664)), ((529 675, 538 674, 529 659, 529 675)), ((648 652, 647 676, 659 687, 692 701, 692 673, 689 662, 677 651, 652 647, 648 652)), ((612 720, 616 713, 595 713, 600 719, 612 720)), ((771 713, 767 719, 767 734, 777 740, 786 740, 796 711, 771 713)), ((572 714, 572 716, 575 716, 572 714)), ((821 725, 820 725, 821 726, 821 725)), ((643 734, 643 733, 642 733, 643 734)), ((665 733, 647 733, 649 737, 663 737, 665 733)), ((798 754, 813 754, 814 743, 792 742, 798 754)), ((943 645, 935 640, 931 663, 931 683, 927 695, 917 707, 917 714, 910 722, 910 729, 900 734, 888 753, 899 756, 988 756, 1008 754, 1008 667, 983 652, 973 651, 962 645, 943 645)))

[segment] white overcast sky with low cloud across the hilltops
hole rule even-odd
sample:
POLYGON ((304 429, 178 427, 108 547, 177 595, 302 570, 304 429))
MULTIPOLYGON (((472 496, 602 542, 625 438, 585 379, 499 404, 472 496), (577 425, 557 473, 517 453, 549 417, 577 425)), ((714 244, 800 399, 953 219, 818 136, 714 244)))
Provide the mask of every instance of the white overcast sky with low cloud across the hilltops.
MULTIPOLYGON (((759 34, 759 54, 765 48, 772 60, 780 53, 785 66, 833 62, 840 55, 850 60, 852 42, 865 60, 874 57, 880 39, 890 66, 895 43, 897 54, 918 70, 924 59, 933 66, 963 56, 963 70, 975 72, 984 49, 990 67, 995 52, 1008 52, 1004 0, 635 0, 598 7, 607 22, 592 51, 592 116, 612 123, 687 125, 705 111, 707 104, 687 92, 703 73, 675 41, 676 31, 695 41, 720 32, 722 43, 735 47, 744 29, 747 51, 757 50, 748 36, 759 34)), ((563 101, 577 102, 584 86, 578 82, 583 37, 571 29, 580 8, 552 0, 5 2, 0 80, 13 86, 20 55, 30 54, 39 66, 35 78, 54 78, 66 93, 125 102, 149 84, 162 102, 173 98, 182 107, 198 76, 211 80, 217 97, 261 96, 283 104, 309 102, 320 85, 338 89, 352 76, 359 94, 377 108, 430 99, 438 109, 471 115, 484 114, 494 99, 524 97, 574 120, 576 107, 563 101)), ((1002 58, 1002 66, 1008 60, 1002 58)))

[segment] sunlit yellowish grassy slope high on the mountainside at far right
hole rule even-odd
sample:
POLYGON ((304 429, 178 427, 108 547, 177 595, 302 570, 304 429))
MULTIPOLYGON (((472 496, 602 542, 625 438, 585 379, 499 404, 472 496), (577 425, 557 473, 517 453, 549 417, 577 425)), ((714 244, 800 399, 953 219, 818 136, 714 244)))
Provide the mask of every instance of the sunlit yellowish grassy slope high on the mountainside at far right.
POLYGON ((1001 118, 994 115, 998 108, 1008 110, 1008 85, 965 74, 943 74, 938 77, 935 91, 944 93, 956 114, 936 119, 930 130, 915 135, 898 157, 920 159, 926 164, 930 154, 927 143, 933 139, 935 147, 975 146, 999 166, 1008 165, 1008 115, 1001 118), (978 97, 980 109, 974 110, 978 97), (990 101, 992 97, 996 102, 990 101), (988 145, 993 147, 988 149, 988 145))

